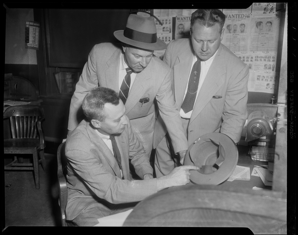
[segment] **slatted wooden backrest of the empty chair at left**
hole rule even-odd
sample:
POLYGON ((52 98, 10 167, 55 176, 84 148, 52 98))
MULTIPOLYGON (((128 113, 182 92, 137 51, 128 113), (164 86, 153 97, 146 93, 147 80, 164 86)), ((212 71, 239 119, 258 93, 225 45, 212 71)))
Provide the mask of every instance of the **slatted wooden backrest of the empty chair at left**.
POLYGON ((3 118, 10 119, 11 138, 39 138, 41 149, 44 149, 44 133, 41 121, 44 110, 39 105, 16 105, 8 107, 3 118))

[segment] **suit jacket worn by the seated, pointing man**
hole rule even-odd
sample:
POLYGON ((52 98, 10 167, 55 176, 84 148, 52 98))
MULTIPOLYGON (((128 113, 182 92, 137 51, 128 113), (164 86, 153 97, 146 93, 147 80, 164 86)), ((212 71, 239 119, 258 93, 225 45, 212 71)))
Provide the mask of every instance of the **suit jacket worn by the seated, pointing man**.
POLYGON ((99 203, 100 212, 107 216, 113 204, 137 202, 157 192, 156 178, 131 181, 129 158, 141 178, 153 169, 130 123, 115 140, 124 179, 112 152, 89 122, 83 120, 67 137, 67 220, 73 220, 92 203, 99 203))

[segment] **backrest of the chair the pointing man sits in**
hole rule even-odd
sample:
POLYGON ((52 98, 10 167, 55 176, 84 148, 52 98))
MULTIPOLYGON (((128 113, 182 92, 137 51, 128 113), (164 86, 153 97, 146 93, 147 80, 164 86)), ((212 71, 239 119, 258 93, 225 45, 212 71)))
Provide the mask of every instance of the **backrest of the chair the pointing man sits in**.
POLYGON ((65 207, 67 203, 67 185, 66 185, 66 156, 65 156, 65 142, 61 143, 57 151, 58 163, 58 183, 59 183, 59 203, 62 226, 67 226, 65 221, 65 207))

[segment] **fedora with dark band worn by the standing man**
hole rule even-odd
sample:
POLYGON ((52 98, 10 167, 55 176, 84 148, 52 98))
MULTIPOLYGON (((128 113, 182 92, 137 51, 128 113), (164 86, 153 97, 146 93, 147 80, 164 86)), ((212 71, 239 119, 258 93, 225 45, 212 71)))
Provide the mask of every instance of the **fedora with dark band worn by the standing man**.
POLYGON ((148 50, 163 50, 167 44, 157 38, 154 17, 130 14, 125 30, 117 30, 114 36, 122 43, 148 50))

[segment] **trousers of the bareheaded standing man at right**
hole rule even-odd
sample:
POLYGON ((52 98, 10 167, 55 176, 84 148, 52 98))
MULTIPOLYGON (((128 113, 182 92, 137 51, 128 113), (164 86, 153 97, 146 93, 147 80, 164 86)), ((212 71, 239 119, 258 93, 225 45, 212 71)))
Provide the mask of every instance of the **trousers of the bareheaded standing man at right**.
MULTIPOLYGON (((185 133, 187 133, 189 119, 181 118, 185 133)), ((181 165, 180 157, 175 154, 172 142, 167 133, 155 149, 154 169, 156 178, 169 174, 175 167, 181 165)))

